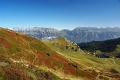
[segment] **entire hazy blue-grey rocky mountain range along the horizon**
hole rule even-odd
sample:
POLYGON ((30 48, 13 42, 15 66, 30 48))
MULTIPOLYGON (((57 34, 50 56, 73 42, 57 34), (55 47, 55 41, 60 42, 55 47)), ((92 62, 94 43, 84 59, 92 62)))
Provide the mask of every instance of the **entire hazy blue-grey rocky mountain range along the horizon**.
POLYGON ((58 37, 65 37, 68 40, 76 43, 102 41, 120 37, 119 27, 114 28, 77 27, 74 30, 68 29, 57 30, 54 28, 34 27, 27 29, 14 28, 13 30, 22 32, 37 39, 49 40, 58 37))

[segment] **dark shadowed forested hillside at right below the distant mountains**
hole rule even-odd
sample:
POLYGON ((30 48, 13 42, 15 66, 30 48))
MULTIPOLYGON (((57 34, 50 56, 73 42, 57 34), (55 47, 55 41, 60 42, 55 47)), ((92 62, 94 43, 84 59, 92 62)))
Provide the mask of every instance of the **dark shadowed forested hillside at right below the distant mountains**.
POLYGON ((82 50, 97 52, 107 56, 114 56, 120 58, 120 38, 105 40, 105 41, 92 41, 88 43, 78 44, 82 50))

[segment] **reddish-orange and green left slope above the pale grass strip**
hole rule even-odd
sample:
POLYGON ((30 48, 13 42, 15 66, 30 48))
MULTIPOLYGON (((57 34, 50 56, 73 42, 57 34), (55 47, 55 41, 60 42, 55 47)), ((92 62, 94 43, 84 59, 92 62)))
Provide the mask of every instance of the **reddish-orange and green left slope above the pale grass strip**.
POLYGON ((56 72, 61 68, 59 72, 63 75, 77 75, 76 70, 79 71, 69 65, 66 58, 52 51, 41 41, 5 29, 0 29, 0 54, 15 63, 29 63, 37 68, 45 66, 56 72))

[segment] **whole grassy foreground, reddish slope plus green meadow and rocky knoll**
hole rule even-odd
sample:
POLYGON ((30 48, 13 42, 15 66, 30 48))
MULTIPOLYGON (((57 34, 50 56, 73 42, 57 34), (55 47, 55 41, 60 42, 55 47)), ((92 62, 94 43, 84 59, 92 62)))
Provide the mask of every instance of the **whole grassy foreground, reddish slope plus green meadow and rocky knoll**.
MULTIPOLYGON (((64 44, 64 41, 67 41, 61 40, 58 41, 64 44)), ((118 64, 116 66, 110 59, 104 61, 84 54, 75 43, 71 42, 65 44, 70 45, 70 47, 66 47, 66 52, 62 49, 61 43, 58 43, 59 51, 56 51, 54 41, 52 42, 40 41, 21 33, 0 28, 0 79, 119 79, 119 60, 115 60, 118 64), (97 67, 98 65, 99 67, 97 67)))

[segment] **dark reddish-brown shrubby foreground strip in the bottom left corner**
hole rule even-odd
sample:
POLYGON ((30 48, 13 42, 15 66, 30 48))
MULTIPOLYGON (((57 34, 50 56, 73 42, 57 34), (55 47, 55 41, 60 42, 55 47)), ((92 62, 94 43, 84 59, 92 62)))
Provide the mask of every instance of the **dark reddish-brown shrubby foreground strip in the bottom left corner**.
POLYGON ((51 72, 34 65, 13 62, 0 55, 0 80, 61 80, 51 72))

